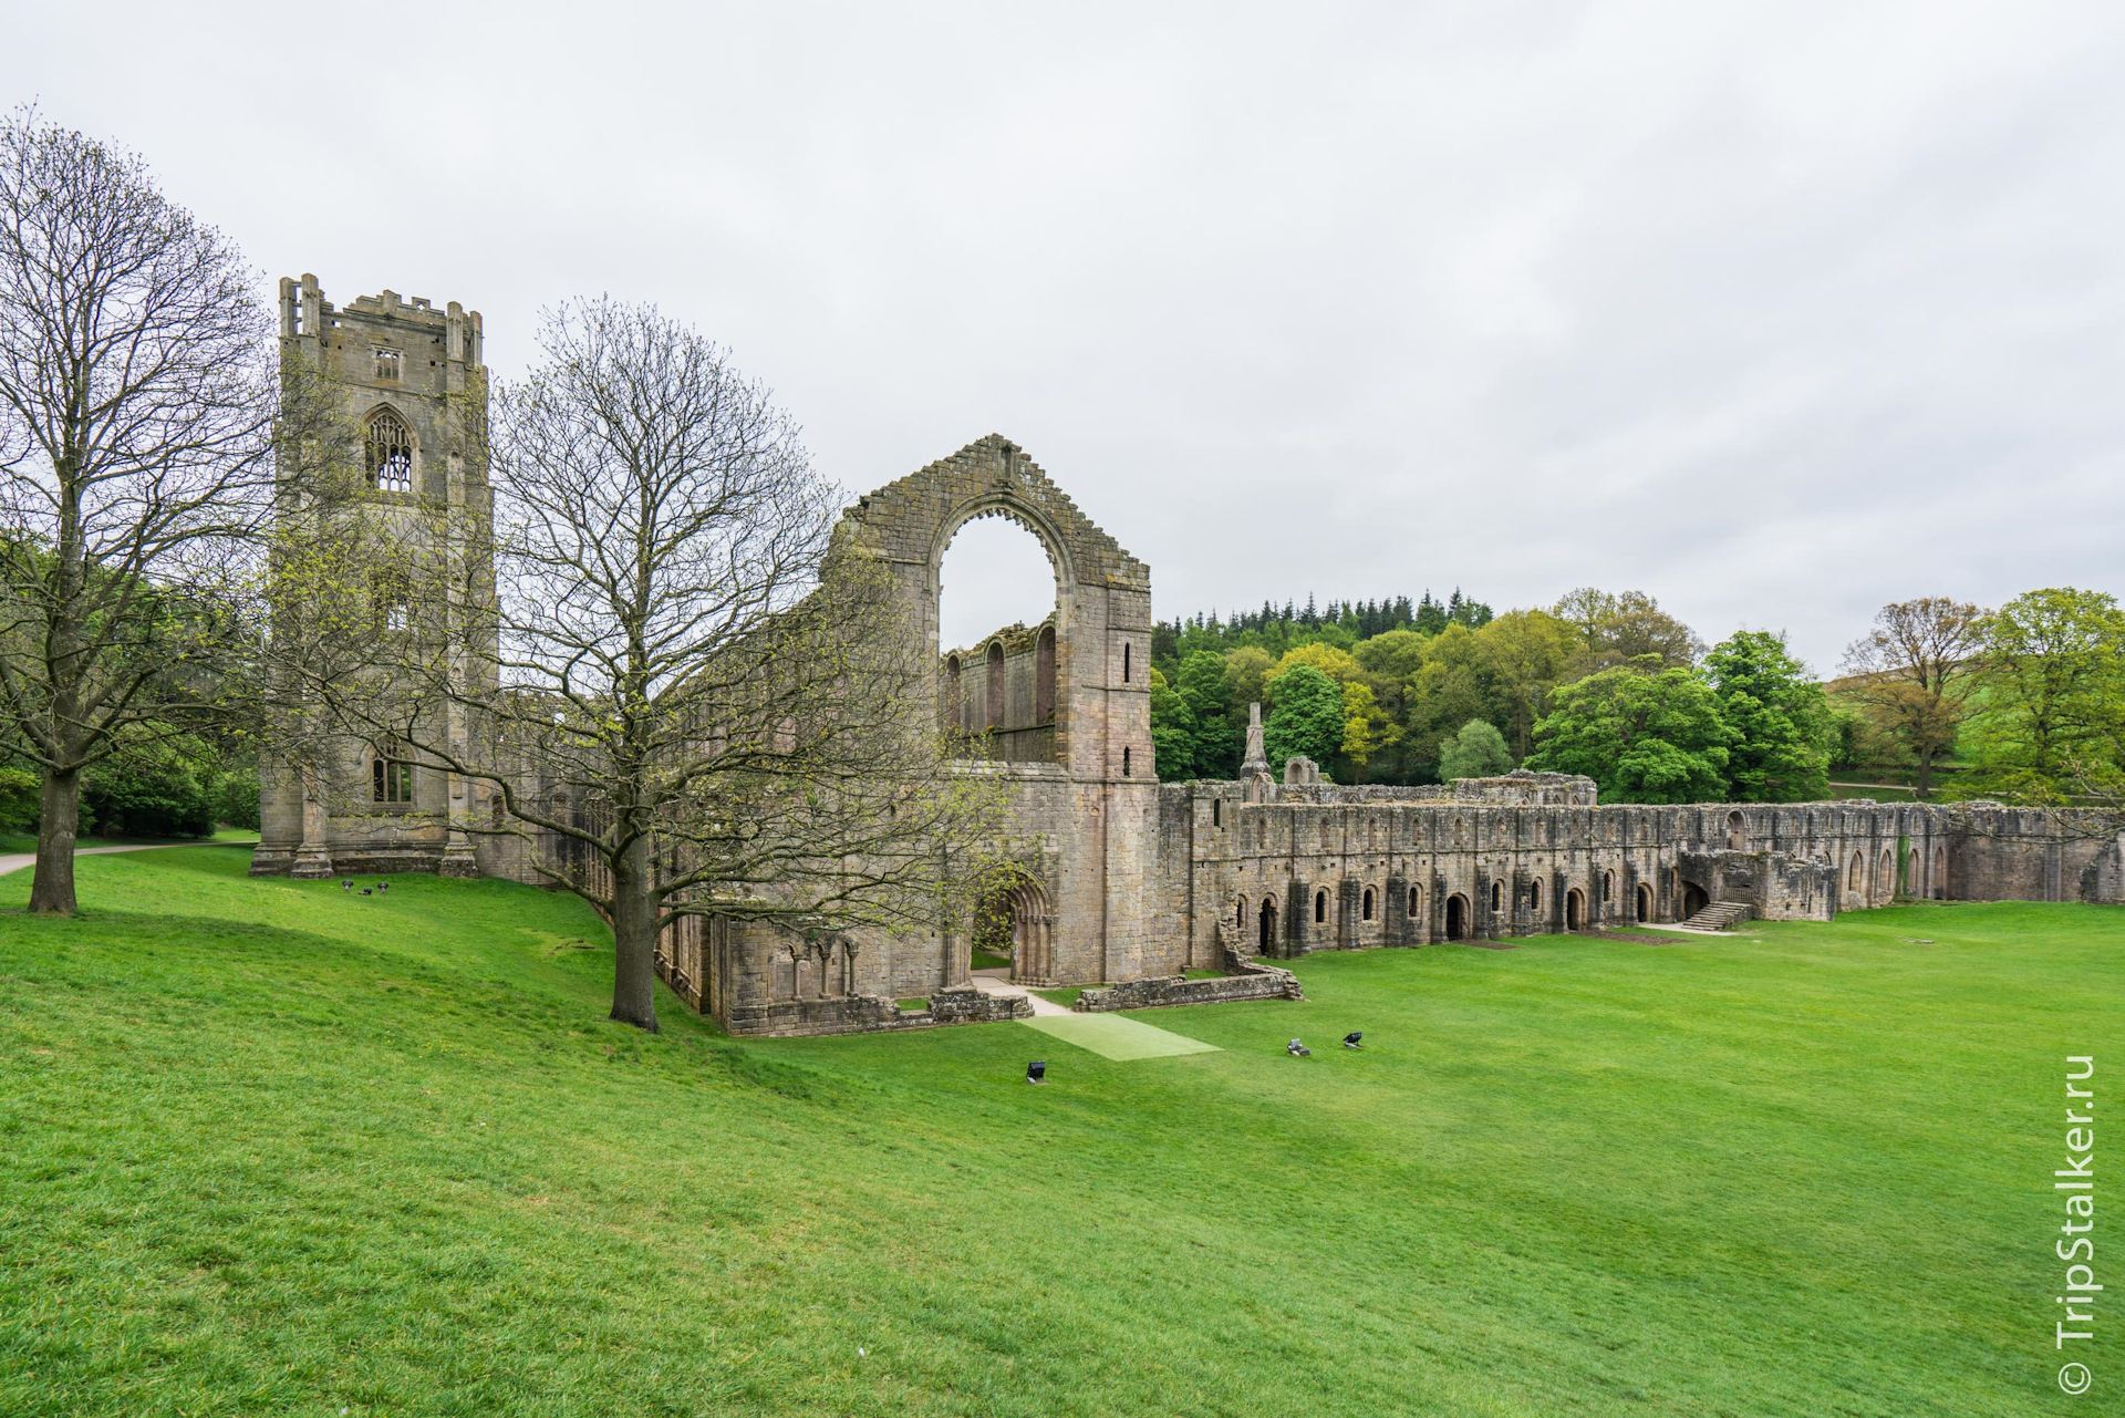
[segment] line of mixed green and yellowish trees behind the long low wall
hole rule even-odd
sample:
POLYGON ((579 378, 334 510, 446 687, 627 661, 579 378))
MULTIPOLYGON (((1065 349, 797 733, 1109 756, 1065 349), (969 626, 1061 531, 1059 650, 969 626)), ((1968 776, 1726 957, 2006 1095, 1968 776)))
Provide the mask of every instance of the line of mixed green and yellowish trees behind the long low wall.
POLYGON ((1362 610, 1332 610, 1167 623, 1160 778, 1232 776, 1260 699, 1271 767, 1305 755, 1341 782, 1532 767, 1585 774, 1604 801, 1804 801, 1830 795, 1832 767, 1872 765, 1908 770, 1923 799, 1955 761, 1955 797, 2125 799, 2125 617, 2102 591, 1883 606, 1830 682, 1781 634, 1706 646, 1643 591, 1373 634, 1362 610))

